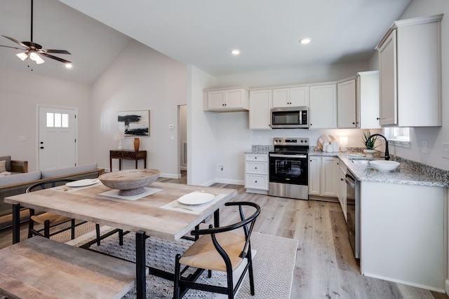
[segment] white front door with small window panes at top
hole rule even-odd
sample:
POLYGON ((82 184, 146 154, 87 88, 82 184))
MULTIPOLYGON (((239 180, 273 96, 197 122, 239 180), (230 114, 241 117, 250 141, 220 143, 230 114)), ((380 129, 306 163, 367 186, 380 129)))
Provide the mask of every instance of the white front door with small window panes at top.
POLYGON ((39 106, 39 170, 76 166, 76 109, 39 106))

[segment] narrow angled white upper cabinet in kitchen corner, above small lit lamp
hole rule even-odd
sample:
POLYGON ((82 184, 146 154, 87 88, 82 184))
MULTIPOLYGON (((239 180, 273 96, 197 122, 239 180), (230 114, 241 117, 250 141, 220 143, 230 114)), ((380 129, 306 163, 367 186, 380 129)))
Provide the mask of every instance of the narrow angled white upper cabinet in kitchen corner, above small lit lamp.
POLYGON ((352 129, 356 123, 356 79, 337 83, 338 127, 352 129))

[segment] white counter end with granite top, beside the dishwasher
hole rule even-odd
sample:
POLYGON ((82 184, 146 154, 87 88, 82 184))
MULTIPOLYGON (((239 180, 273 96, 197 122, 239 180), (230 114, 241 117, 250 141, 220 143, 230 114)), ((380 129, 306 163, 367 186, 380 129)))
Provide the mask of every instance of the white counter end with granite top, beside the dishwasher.
POLYGON ((360 181, 361 273, 444 292, 447 172, 406 161, 377 172, 338 156, 360 181))

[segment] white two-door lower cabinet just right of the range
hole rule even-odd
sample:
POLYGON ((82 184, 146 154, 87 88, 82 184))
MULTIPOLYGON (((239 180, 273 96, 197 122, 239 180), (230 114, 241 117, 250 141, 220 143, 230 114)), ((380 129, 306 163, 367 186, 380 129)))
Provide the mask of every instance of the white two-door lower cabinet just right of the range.
POLYGON ((309 156, 309 195, 338 197, 340 159, 309 156))

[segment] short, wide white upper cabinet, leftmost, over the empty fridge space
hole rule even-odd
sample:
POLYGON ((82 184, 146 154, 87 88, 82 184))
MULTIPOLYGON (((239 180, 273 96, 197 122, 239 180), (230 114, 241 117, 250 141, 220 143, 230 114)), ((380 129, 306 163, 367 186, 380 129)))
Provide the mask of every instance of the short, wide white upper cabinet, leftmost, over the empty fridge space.
POLYGON ((249 110, 249 92, 246 88, 203 90, 204 109, 210 111, 249 110))

